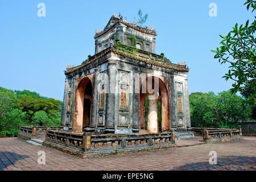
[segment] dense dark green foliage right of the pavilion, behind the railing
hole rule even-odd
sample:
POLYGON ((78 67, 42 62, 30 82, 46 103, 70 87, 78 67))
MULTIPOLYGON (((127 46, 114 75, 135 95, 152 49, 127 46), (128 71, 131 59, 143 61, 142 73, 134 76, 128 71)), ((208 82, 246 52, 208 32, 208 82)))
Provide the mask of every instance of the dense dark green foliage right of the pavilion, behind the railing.
POLYGON ((217 95, 191 93, 189 102, 193 127, 237 127, 238 121, 250 118, 251 108, 246 100, 230 91, 217 95))

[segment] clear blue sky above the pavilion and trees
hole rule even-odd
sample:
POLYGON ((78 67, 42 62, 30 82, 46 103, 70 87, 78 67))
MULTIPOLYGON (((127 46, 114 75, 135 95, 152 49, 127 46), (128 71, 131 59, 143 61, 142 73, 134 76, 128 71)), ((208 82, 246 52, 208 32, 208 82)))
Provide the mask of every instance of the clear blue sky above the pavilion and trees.
POLYGON ((149 14, 144 25, 156 27, 156 53, 189 66, 189 93, 228 90, 231 82, 221 78, 228 65, 219 64, 210 50, 219 46, 219 34, 253 19, 244 2, 0 0, 0 86, 63 100, 63 71, 94 55, 94 31, 114 13, 133 21, 140 8, 149 14), (45 17, 37 15, 41 2, 45 17), (212 2, 217 17, 209 16, 212 2))

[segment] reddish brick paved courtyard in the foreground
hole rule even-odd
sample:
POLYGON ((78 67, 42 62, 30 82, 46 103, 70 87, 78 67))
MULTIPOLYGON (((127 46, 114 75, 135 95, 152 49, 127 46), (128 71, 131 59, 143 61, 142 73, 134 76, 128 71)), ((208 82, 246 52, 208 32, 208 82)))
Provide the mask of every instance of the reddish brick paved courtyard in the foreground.
MULTIPOLYGON (((184 140, 181 140, 181 145, 184 140)), ((256 137, 243 140, 133 154, 79 159, 52 148, 33 146, 17 138, 0 138, 1 170, 256 170, 256 137), (209 152, 216 151, 218 164, 209 164, 209 152), (38 151, 46 152, 46 164, 39 165, 38 151)))

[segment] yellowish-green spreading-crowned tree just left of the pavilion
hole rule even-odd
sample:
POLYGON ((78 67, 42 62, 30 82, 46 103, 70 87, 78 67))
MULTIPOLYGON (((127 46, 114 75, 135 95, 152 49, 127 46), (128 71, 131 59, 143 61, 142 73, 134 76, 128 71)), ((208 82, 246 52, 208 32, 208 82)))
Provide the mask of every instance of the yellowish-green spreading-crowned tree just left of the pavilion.
POLYGON ((45 100, 43 98, 22 95, 17 105, 20 110, 25 112, 25 119, 27 119, 29 125, 43 125, 42 119, 38 119, 39 111, 44 111, 49 117, 56 118, 59 115, 61 101, 54 100, 53 98, 45 100))

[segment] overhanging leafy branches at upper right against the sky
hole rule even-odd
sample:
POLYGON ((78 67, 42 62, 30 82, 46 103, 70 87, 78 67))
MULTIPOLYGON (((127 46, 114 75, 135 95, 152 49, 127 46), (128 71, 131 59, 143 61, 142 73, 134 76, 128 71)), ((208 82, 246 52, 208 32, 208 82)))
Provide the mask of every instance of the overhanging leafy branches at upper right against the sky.
MULTIPOLYGON (((247 10, 250 8, 252 12, 256 10, 256 1, 249 0, 245 2, 247 10)), ((228 73, 223 76, 225 80, 233 80, 233 88, 231 92, 242 92, 247 83, 256 87, 256 16, 254 21, 245 25, 235 24, 233 30, 226 36, 220 35, 223 39, 222 46, 215 53, 214 58, 219 60, 219 63, 230 64, 228 73)), ((254 97, 256 99, 256 97, 254 97)))

